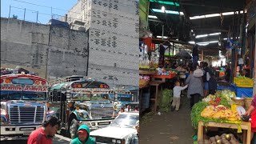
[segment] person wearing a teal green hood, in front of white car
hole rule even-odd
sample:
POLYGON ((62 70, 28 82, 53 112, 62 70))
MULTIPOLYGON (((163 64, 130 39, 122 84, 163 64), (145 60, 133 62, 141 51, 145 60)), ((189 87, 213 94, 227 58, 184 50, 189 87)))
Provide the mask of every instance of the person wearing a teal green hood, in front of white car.
POLYGON ((78 138, 74 138, 70 144, 95 144, 95 139, 90 137, 90 128, 82 125, 78 128, 78 138))

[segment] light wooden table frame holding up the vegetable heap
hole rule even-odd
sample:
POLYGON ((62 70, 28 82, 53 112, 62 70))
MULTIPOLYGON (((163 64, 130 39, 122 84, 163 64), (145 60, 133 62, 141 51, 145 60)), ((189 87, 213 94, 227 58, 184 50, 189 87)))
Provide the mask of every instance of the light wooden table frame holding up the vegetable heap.
MULTIPOLYGON (((203 139, 204 126, 238 129, 238 124, 234 124, 234 123, 208 122, 207 124, 204 124, 203 122, 198 122, 198 141, 203 139)), ((250 134, 251 134, 250 122, 242 122, 240 126, 243 132, 242 143, 250 144, 250 134)))

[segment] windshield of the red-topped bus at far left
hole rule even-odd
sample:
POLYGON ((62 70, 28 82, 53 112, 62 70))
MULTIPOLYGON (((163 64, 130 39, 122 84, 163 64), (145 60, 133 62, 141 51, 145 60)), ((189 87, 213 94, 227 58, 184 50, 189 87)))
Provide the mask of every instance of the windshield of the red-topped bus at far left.
POLYGON ((46 100, 46 92, 1 90, 1 100, 46 100))

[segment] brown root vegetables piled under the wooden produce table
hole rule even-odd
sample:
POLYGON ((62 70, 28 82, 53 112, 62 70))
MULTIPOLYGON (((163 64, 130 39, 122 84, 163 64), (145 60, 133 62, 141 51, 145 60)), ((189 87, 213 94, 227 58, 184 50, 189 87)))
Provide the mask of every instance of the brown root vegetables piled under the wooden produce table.
POLYGON ((210 139, 200 140, 198 144, 239 144, 239 142, 234 134, 222 134, 221 136, 216 135, 210 139))

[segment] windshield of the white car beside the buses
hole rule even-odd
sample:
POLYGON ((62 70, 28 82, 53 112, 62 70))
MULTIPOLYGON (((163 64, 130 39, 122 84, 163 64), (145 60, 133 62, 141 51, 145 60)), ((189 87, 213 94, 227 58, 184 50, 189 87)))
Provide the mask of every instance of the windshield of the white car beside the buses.
POLYGON ((110 124, 110 126, 116 127, 132 127, 136 126, 138 121, 138 115, 134 114, 119 114, 117 118, 110 124))

